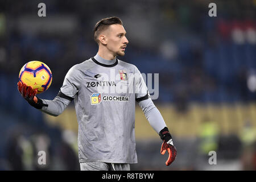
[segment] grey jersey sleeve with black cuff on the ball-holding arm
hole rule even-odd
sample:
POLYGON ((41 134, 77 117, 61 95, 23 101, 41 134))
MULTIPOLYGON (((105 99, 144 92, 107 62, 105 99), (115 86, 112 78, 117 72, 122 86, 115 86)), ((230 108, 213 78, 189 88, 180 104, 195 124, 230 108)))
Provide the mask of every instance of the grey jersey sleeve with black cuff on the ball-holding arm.
POLYGON ((64 78, 63 86, 60 88, 62 97, 74 98, 80 89, 81 72, 77 69, 76 65, 69 69, 67 75, 64 78))

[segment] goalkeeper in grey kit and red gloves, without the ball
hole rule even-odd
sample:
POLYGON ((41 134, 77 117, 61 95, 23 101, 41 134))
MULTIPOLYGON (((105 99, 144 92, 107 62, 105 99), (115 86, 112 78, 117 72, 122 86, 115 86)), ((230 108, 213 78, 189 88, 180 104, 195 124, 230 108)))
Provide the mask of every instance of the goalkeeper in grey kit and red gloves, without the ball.
POLYGON ((152 102, 138 68, 117 59, 125 55, 129 43, 121 19, 111 17, 97 22, 94 40, 98 44, 96 56, 69 69, 53 100, 38 98, 36 90, 19 81, 20 94, 36 109, 54 116, 75 101, 80 168, 90 171, 127 171, 130 164, 137 163, 134 131, 137 101, 163 140, 160 153, 168 151, 169 166, 176 158, 176 148, 166 123, 152 102), (118 76, 112 78, 113 72, 118 76), (125 92, 117 92, 118 88, 125 92))

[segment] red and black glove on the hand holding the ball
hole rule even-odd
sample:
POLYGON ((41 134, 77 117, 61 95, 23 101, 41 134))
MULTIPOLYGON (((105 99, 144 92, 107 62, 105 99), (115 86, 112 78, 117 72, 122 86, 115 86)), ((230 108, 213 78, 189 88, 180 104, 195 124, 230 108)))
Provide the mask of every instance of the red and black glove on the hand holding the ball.
POLYGON ((22 82, 19 81, 18 90, 21 96, 28 102, 28 104, 35 107, 36 109, 42 109, 43 106, 48 106, 46 104, 43 104, 43 101, 40 98, 36 97, 36 93, 38 93, 38 90, 33 90, 31 86, 22 84, 22 82))

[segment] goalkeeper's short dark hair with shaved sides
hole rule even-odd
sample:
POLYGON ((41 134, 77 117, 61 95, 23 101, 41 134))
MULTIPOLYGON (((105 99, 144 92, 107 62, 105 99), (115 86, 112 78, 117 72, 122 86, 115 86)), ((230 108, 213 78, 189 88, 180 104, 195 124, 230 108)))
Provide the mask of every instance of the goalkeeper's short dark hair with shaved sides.
POLYGON ((104 18, 98 21, 93 30, 93 38, 94 40, 99 43, 98 36, 104 30, 106 30, 112 24, 123 24, 122 20, 116 16, 112 16, 110 18, 104 18))

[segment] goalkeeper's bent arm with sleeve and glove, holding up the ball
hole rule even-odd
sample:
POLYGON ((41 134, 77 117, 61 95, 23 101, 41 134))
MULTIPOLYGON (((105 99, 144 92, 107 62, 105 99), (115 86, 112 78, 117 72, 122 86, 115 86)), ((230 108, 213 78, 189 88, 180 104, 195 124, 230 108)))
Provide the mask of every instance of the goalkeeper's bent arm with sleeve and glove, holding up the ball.
POLYGON ((18 82, 18 90, 22 97, 36 109, 49 115, 57 116, 63 113, 64 109, 72 102, 80 88, 80 71, 76 69, 76 65, 69 69, 64 78, 63 86, 60 92, 53 100, 43 100, 36 96, 36 90, 32 90, 31 86, 27 86, 18 82))

